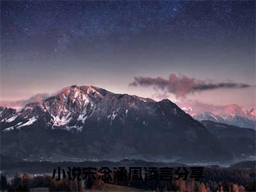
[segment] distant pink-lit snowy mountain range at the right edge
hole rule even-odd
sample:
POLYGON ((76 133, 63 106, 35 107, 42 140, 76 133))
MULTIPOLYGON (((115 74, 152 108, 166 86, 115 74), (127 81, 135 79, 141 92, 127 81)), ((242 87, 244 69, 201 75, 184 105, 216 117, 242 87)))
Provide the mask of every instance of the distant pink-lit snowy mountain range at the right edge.
POLYGON ((256 129, 256 109, 254 108, 251 111, 247 111, 236 104, 230 104, 227 106, 212 108, 211 111, 203 112, 196 112, 191 107, 182 109, 199 121, 211 120, 223 124, 256 129))

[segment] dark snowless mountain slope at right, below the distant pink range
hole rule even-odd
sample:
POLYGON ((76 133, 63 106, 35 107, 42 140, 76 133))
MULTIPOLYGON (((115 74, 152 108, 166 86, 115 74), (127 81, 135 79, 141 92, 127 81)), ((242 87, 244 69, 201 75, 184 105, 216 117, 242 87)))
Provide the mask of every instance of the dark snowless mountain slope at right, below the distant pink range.
POLYGON ((202 121, 207 130, 211 132, 220 143, 232 152, 237 161, 255 160, 256 131, 254 129, 236 127, 216 123, 212 121, 202 121))

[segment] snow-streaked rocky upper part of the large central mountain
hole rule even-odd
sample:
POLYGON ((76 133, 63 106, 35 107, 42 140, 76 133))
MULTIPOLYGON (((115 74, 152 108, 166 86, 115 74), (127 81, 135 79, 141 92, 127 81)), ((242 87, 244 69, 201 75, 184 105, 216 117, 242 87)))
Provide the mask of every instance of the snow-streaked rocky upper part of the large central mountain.
MULTIPOLYGON (((26 104, 19 112, 15 111, 13 114, 10 114, 6 111, 6 113, 0 116, 0 121, 6 124, 12 122, 10 127, 6 128, 6 131, 13 130, 14 128, 19 129, 38 121, 44 122, 51 129, 61 128, 81 131, 86 120, 95 111, 106 113, 106 111, 109 111, 105 106, 106 103, 111 104, 111 102, 115 102, 115 100, 122 97, 127 98, 130 106, 134 106, 137 102, 155 102, 154 100, 135 95, 111 93, 95 86, 73 85, 63 88, 56 95, 41 102, 26 104)), ((110 119, 112 124, 118 115, 120 107, 111 106, 111 108, 113 109, 109 111, 109 114, 114 116, 114 118, 110 119)), ((127 108, 128 106, 125 108, 126 114, 128 113, 127 108)))

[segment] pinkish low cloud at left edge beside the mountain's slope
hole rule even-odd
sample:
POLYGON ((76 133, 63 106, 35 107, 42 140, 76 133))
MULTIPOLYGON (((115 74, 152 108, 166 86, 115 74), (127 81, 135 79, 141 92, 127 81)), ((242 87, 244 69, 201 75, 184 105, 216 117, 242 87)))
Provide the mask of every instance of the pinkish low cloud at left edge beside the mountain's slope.
POLYGON ((19 109, 24 107, 26 104, 31 102, 40 102, 41 100, 47 99, 50 97, 49 93, 38 93, 33 95, 29 99, 22 99, 22 100, 1 100, 0 106, 8 107, 8 108, 15 108, 19 109))

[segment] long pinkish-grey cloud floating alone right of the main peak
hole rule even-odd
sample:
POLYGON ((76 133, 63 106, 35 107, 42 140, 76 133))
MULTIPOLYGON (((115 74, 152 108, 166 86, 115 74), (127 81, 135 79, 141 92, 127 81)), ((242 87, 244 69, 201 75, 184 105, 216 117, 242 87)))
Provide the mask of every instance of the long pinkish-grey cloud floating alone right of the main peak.
POLYGON ((153 86, 155 89, 173 93, 177 98, 186 97, 189 93, 216 90, 220 88, 248 88, 252 87, 245 83, 210 83, 187 76, 177 76, 170 74, 169 79, 163 77, 134 77, 134 81, 129 86, 153 86))

